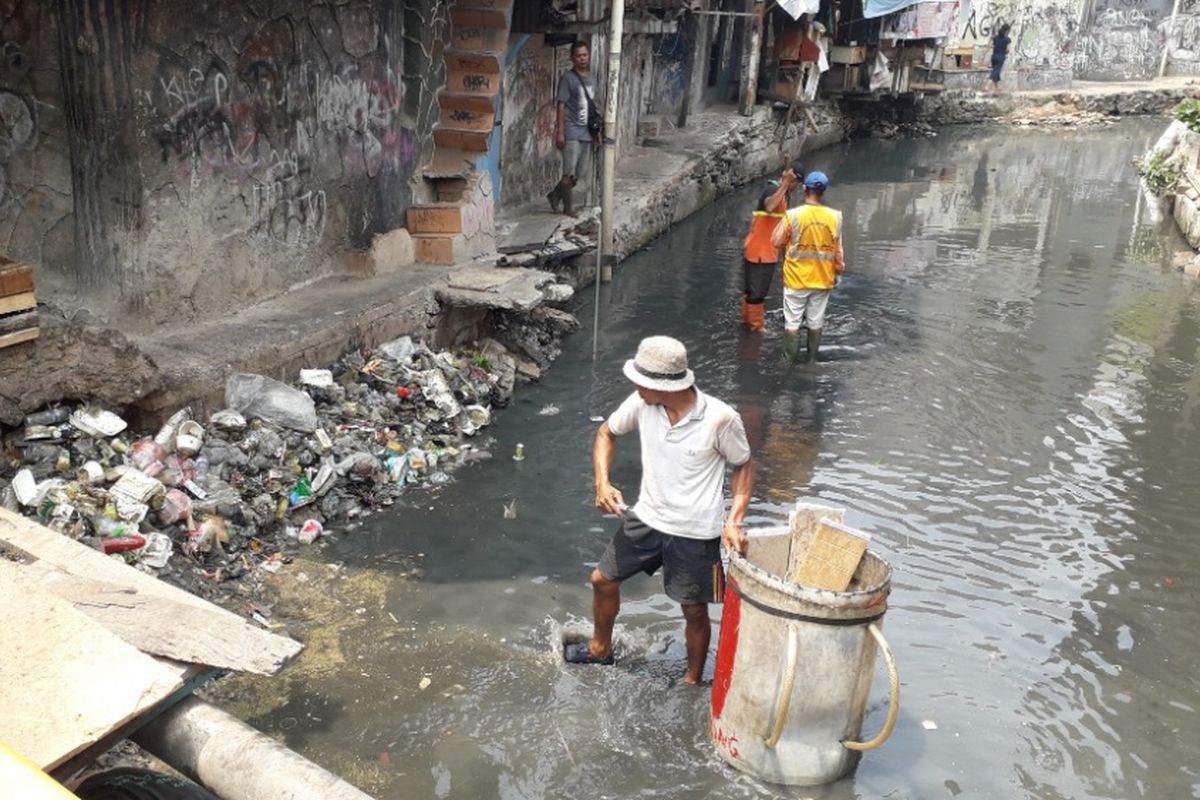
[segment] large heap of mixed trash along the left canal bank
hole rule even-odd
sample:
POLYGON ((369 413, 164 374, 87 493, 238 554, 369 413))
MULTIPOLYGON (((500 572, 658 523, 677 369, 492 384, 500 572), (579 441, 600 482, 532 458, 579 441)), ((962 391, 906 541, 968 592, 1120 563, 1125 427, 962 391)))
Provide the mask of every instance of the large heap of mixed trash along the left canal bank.
POLYGON ((521 360, 487 339, 434 353, 402 337, 302 369, 295 386, 234 374, 227 408, 154 435, 116 414, 52 408, 4 438, 0 506, 202 595, 274 572, 292 542, 449 482, 512 396, 521 360))

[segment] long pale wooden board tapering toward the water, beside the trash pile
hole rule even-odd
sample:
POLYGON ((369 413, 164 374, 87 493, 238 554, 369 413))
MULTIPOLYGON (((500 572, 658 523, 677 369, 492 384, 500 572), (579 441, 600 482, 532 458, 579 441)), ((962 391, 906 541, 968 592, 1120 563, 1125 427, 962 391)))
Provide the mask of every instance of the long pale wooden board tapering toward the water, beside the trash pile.
POLYGON ((31 557, 29 581, 149 652, 270 675, 302 648, 5 509, 0 542, 31 557))

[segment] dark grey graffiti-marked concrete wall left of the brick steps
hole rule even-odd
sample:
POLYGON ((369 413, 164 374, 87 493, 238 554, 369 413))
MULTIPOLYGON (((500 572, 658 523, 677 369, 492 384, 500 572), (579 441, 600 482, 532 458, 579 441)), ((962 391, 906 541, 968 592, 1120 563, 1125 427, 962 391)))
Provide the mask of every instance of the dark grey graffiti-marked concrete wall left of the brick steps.
POLYGON ((448 0, 12 5, 0 36, 28 68, 0 113, 32 121, 7 126, 0 247, 43 289, 144 329, 330 273, 403 224, 448 0))

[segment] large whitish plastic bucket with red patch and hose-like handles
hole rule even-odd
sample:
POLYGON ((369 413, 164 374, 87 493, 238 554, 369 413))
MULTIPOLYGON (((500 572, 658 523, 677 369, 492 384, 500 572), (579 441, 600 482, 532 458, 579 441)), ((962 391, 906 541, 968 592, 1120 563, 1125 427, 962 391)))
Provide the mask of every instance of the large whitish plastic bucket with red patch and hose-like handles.
MULTIPOLYGON (((842 512, 800 504, 793 527, 842 512), (800 513, 800 512, 804 513, 800 513)), ((791 533, 752 536, 730 558, 713 676, 709 738, 721 758, 772 783, 816 786, 851 774, 895 724, 900 681, 881 625, 892 567, 863 557, 847 591, 809 589, 787 573, 791 533), (890 679, 887 721, 859 741, 882 649, 890 679)))

